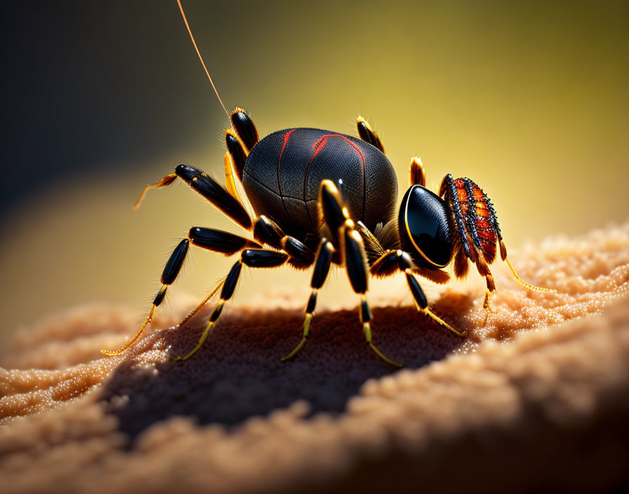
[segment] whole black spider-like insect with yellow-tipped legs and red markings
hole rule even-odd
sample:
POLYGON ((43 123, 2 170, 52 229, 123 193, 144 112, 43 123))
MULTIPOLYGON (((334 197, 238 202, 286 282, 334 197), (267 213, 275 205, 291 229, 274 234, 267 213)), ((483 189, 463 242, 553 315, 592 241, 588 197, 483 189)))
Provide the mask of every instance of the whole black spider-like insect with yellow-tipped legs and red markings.
POLYGON ((307 301, 303 336, 283 360, 290 359, 305 344, 315 314, 317 291, 324 285, 332 264, 345 267, 353 290, 360 295, 359 318, 367 344, 380 358, 398 366, 371 342, 372 316, 366 300, 370 276, 403 272, 417 309, 458 336, 466 332, 457 331, 430 311, 418 275, 446 283, 450 276, 444 267, 451 260, 457 277, 467 274, 471 261, 486 279, 484 307, 489 309, 489 295, 496 286, 488 266, 496 258, 498 244, 501 259, 508 262, 518 281, 534 290, 548 290, 517 276, 507 260, 494 207, 469 178, 446 175, 437 195, 425 187, 422 163, 413 158, 410 187, 397 206, 395 171, 380 138, 362 117, 357 121, 359 138, 315 128, 289 128, 260 140, 256 126, 243 109, 236 108, 229 116, 231 126, 225 133, 226 187, 199 168, 179 165, 175 173, 147 185, 136 207, 147 189, 166 187, 180 178, 250 232, 253 239, 212 228, 190 229, 166 262, 162 286, 139 331, 121 349, 103 353, 124 352, 140 337, 179 274, 190 244, 225 255, 238 254, 239 258, 215 290, 180 322, 182 326, 197 314, 222 286, 220 300, 197 346, 176 361, 189 359, 204 344, 225 302, 232 298, 242 265, 312 267, 312 294, 307 301), (256 218, 247 213, 237 192, 237 181, 241 182, 256 218))

